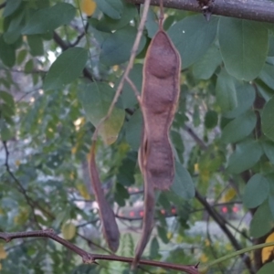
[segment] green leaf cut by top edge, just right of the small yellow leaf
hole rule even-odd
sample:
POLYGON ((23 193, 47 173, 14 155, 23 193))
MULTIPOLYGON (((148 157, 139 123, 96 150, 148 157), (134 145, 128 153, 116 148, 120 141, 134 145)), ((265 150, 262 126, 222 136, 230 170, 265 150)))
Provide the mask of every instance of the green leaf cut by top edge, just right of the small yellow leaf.
POLYGON ((120 19, 123 9, 121 0, 95 0, 98 8, 112 19, 120 19))

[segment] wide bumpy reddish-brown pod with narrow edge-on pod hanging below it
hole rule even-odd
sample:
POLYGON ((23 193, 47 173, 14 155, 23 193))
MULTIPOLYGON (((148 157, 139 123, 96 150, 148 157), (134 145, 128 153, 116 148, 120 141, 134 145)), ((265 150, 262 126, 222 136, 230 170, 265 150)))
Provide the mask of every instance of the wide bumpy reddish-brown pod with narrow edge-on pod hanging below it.
POLYGON ((154 188, 167 190, 174 181, 174 153, 169 130, 180 95, 180 72, 180 55, 163 30, 160 19, 159 30, 147 50, 142 70, 143 127, 139 165, 144 182, 144 216, 142 237, 132 269, 138 264, 153 229, 154 188))

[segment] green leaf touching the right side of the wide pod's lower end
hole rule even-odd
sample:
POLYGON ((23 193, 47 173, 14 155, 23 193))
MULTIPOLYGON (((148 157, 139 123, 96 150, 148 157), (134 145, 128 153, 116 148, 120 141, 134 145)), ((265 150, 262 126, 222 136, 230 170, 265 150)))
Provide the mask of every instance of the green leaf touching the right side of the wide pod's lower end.
POLYGON ((195 196, 195 185, 190 174, 177 161, 175 161, 175 178, 171 189, 175 195, 179 195, 184 199, 192 199, 195 196))

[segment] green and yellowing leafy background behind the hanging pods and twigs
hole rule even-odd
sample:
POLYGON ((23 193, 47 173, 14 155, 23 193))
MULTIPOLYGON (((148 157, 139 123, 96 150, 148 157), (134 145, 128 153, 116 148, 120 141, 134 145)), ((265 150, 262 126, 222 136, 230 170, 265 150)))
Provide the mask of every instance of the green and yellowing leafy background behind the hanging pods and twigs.
MULTIPOLYGON (((52 227, 81 248, 107 253, 87 155, 130 58, 139 6, 124 0, 9 0, 1 7, 0 230, 52 227)), ((152 7, 130 75, 138 90, 157 14, 152 7)), ((176 177, 171 191, 158 195, 144 255, 206 263, 273 238, 274 28, 222 16, 207 22, 172 9, 165 16, 184 68, 170 132, 176 177)), ((133 256, 141 231, 141 127, 142 113, 125 84, 97 152, 121 229, 121 256, 133 256)), ((228 260, 210 273, 270 273, 271 252, 228 260)), ((44 239, 0 243, 0 263, 4 274, 129 271, 119 262, 83 265, 44 239)))

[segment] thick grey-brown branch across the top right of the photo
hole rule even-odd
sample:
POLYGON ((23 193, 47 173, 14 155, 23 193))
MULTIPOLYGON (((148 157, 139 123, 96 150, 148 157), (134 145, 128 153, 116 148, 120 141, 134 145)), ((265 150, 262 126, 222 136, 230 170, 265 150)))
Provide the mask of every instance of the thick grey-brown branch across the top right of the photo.
MULTIPOLYGON (((127 0, 132 4, 142 4, 144 0, 127 0)), ((159 5, 160 0, 152 0, 159 5)), ((274 23, 274 2, 269 0, 215 0, 212 14, 240 19, 274 23)), ((163 0, 163 6, 202 13, 196 0, 163 0)))

